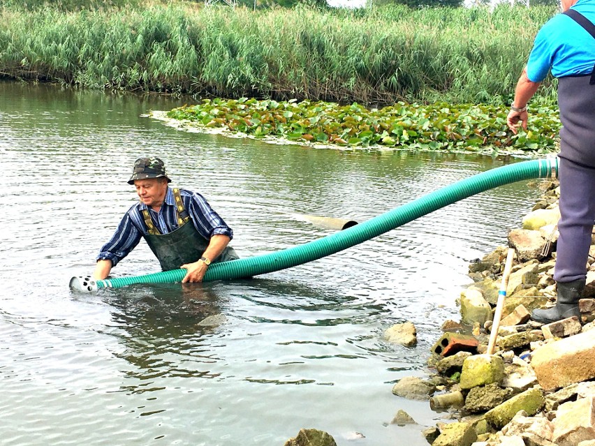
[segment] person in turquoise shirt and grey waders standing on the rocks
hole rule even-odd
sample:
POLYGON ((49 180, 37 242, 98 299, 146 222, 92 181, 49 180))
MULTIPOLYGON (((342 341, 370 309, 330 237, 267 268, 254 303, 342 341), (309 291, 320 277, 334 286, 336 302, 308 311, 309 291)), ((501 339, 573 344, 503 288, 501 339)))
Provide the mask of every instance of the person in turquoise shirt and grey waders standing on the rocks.
POLYGON ((527 129, 527 103, 548 74, 558 78, 561 218, 554 269, 557 301, 531 318, 550 323, 578 316, 595 221, 595 0, 561 0, 564 13, 538 31, 515 89, 508 127, 527 129))

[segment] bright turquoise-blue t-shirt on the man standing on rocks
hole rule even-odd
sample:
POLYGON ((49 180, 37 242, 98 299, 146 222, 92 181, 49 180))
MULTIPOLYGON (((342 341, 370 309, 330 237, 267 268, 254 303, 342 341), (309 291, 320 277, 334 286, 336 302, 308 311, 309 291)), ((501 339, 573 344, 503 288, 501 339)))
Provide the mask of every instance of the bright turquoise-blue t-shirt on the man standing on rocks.
MULTIPOLYGON (((595 1, 578 0, 571 8, 595 23, 595 1)), ((527 77, 541 82, 554 77, 589 75, 595 65, 595 38, 571 17, 558 14, 539 30, 527 62, 527 77)))

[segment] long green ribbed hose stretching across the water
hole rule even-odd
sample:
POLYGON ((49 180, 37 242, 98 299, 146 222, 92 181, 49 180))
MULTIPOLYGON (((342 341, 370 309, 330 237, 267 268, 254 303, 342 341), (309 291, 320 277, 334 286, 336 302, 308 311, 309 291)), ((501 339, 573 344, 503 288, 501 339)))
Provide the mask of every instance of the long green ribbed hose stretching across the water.
MULTIPOLYGON (((321 239, 275 253, 215 263, 209 267, 203 281, 247 278, 302 265, 351 248, 471 195, 523 179, 556 177, 557 172, 557 158, 522 161, 488 170, 321 239)), ((186 269, 174 269, 145 276, 105 279, 97 281, 97 288, 122 288, 133 283, 173 283, 182 281, 184 276, 186 269)))

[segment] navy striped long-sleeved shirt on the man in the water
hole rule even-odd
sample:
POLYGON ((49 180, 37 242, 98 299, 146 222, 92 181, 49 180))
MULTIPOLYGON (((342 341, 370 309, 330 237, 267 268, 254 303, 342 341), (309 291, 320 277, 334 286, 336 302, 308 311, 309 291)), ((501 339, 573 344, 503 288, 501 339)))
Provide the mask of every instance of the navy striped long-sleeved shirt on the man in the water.
MULTIPOLYGON (((186 191, 186 189, 179 189, 179 195, 182 197, 184 209, 188 211, 194 228, 205 239, 210 240, 214 235, 227 235, 230 239, 233 238, 231 228, 210 207, 203 195, 186 191)), ((147 225, 145 225, 145 218, 142 216, 143 209, 149 209, 151 220, 161 234, 168 234, 177 230, 174 195, 172 188, 168 187, 166 200, 159 212, 148 208, 142 202, 138 202, 126 211, 110 241, 101 248, 97 260, 111 260, 112 267, 115 267, 120 260, 125 258, 138 245, 144 235, 149 234, 147 225)))

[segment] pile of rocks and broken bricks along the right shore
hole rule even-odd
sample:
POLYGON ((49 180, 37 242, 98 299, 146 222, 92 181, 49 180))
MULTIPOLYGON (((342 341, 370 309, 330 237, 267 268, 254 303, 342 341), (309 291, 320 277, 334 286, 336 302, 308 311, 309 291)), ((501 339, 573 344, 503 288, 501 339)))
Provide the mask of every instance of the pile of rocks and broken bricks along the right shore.
POLYGON ((487 354, 487 343, 506 246, 470 265, 474 283, 461 293, 461 323, 445 322, 432 348, 436 374, 403 378, 392 389, 456 419, 423 431, 433 446, 595 446, 595 236, 581 320, 529 320, 531 310, 556 297, 559 188, 554 181, 540 186, 543 199, 508 234, 515 266, 494 354, 487 354))

